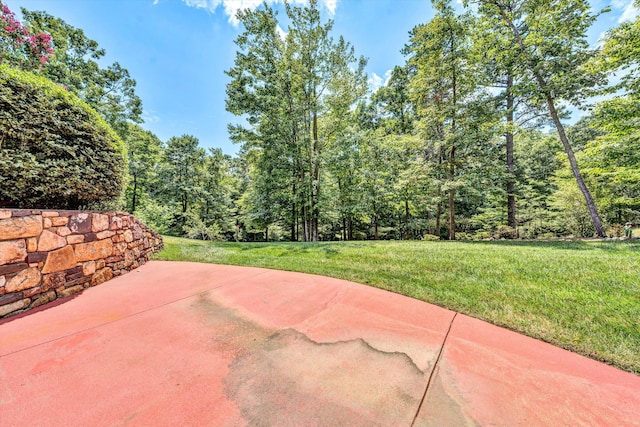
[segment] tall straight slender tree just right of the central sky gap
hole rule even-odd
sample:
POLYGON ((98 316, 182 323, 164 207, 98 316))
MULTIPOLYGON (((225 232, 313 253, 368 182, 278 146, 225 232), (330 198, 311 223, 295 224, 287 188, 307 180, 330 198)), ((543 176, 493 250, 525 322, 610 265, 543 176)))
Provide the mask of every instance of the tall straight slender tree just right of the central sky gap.
MULTIPOLYGON (((477 132, 483 115, 475 64, 470 58, 471 18, 457 16, 447 1, 434 1, 437 10, 427 24, 411 32, 405 53, 413 71, 410 97, 416 105, 425 158, 446 193, 448 238, 456 238, 456 191, 462 185, 465 161, 473 147, 483 144, 477 132), (480 138, 480 139, 478 139, 480 138)), ((484 120, 484 118, 483 118, 484 120)), ((439 218, 440 209, 438 209, 439 218)), ((439 221, 438 221, 439 222, 439 221)))

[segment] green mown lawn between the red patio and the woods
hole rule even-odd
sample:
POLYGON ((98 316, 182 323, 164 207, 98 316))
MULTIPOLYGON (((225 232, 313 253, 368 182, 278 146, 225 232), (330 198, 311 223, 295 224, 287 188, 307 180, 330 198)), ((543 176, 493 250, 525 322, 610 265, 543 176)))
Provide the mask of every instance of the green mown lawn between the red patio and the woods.
POLYGON ((165 237, 154 259, 347 279, 640 374, 640 241, 218 243, 165 237))

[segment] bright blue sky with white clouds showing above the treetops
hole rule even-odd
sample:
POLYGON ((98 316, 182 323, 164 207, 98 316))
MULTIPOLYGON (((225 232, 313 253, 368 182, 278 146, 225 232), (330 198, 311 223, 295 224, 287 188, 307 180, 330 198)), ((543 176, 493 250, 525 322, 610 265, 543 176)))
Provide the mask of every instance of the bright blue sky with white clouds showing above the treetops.
MULTIPOLYGON (((301 2, 303 0, 295 0, 301 2)), ((225 111, 224 74, 232 64, 234 39, 242 28, 234 22, 238 7, 256 7, 261 0, 3 0, 19 9, 45 10, 85 34, 107 52, 104 65, 119 62, 137 81, 144 107, 143 127, 166 141, 194 135, 203 147, 234 154, 227 123, 237 118, 225 111)), ((273 3, 274 0, 269 0, 273 3)), ((335 21, 333 35, 351 42, 356 54, 368 58, 372 85, 404 63, 400 49, 409 31, 427 22, 429 0, 320 0, 326 18, 335 21)), ((637 10, 632 0, 592 0, 594 9, 608 5, 592 28, 591 42, 637 10)), ((273 7, 284 17, 282 2, 273 7)), ((574 116, 578 114, 574 113, 574 116)))

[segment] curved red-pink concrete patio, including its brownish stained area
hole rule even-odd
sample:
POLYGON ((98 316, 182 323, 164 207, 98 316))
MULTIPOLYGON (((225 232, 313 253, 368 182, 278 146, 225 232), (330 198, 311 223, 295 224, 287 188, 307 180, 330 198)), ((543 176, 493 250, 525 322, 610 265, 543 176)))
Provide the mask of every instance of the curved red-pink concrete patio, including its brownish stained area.
POLYGON ((0 321, 1 426, 640 425, 640 377, 367 286, 150 262, 0 321))

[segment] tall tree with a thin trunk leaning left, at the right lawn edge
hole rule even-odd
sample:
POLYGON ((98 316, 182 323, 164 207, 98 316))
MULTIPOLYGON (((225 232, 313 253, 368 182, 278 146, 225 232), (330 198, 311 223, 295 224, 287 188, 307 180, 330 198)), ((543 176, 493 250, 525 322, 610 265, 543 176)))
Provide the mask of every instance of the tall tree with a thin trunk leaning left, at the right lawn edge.
POLYGON ((561 121, 559 105, 581 105, 604 81, 587 67, 594 55, 587 30, 597 18, 585 0, 476 0, 482 19, 498 19, 511 36, 523 73, 519 90, 544 102, 562 141, 572 174, 585 199, 596 234, 605 236, 598 209, 587 187, 561 121))

